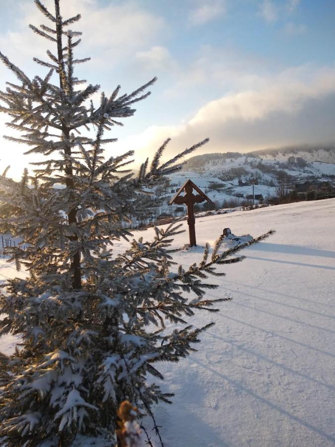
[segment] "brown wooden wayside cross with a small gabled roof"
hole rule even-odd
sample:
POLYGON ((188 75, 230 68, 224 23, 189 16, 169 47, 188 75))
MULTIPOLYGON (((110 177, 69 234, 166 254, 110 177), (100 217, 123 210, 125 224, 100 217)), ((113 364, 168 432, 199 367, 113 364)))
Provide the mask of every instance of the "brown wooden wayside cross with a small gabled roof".
POLYGON ((179 190, 176 192, 174 197, 169 202, 169 205, 175 203, 176 205, 187 206, 187 214, 188 214, 187 223, 189 225, 190 247, 195 247, 197 245, 194 204, 204 202, 205 200, 208 203, 212 203, 209 197, 207 197, 206 194, 203 193, 201 189, 198 188, 198 186, 193 183, 192 180, 187 180, 184 183, 184 185, 179 188, 179 190), (195 190, 198 194, 193 194, 193 190, 195 190), (185 194, 181 195, 183 191, 185 192, 185 194))

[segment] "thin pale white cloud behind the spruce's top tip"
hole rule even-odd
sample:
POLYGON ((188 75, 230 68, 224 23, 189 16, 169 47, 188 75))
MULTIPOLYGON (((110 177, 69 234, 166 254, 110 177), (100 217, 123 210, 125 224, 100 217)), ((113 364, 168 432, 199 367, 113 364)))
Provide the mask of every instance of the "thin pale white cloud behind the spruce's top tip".
MULTIPOLYGON (((54 1, 45 0, 50 11, 54 10, 54 1)), ((0 48, 18 62, 42 56, 47 49, 47 42, 34 35, 28 24, 48 23, 32 2, 26 1, 16 5, 18 23, 15 31, 0 34, 0 48)), ((134 1, 122 3, 110 2, 102 6, 98 0, 71 0, 61 4, 63 17, 81 13, 81 20, 71 25, 72 29, 83 32, 82 44, 78 52, 109 66, 116 65, 129 54, 150 45, 158 35, 167 33, 165 20, 153 13, 141 9, 134 1), (93 51, 94 50, 94 51, 93 51), (95 57, 95 55, 99 55, 95 57)), ((52 47, 53 44, 48 45, 52 47)))

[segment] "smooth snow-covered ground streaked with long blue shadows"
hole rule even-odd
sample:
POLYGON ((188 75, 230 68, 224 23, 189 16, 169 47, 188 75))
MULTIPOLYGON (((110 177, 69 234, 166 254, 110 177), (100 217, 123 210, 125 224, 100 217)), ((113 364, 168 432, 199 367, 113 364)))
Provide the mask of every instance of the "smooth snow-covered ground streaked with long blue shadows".
MULTIPOLYGON (((215 279, 220 288, 208 295, 233 301, 191 319, 216 321, 199 352, 161 365, 164 389, 176 393, 172 406, 155 410, 165 447, 334 446, 335 199, 199 218, 198 244, 212 244, 224 227, 236 235, 277 232, 215 279)), ((186 239, 178 235, 174 246, 186 239)), ((197 247, 176 261, 200 257, 197 247)), ((8 350, 12 340, 0 343, 8 350)))

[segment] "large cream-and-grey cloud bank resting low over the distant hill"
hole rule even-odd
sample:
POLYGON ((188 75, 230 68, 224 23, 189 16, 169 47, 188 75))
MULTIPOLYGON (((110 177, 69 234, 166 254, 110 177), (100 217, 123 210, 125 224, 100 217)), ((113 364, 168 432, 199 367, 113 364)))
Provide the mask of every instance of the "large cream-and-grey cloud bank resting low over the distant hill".
POLYGON ((335 68, 316 70, 303 66, 264 78, 255 89, 210 101, 186 123, 151 126, 123 144, 137 149, 139 161, 167 137, 173 138, 167 155, 205 137, 211 141, 201 149, 202 153, 329 143, 335 141, 331 124, 334 107, 335 68))

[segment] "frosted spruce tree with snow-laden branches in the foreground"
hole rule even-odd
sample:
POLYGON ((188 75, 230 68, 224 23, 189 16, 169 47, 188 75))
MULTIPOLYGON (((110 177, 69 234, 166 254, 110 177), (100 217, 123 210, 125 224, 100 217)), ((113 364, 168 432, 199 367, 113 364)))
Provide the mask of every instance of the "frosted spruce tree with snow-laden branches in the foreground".
POLYGON ((192 328, 187 317, 225 300, 205 299, 215 286, 204 280, 222 274, 216 266, 241 260, 230 256, 242 247, 219 254, 219 239, 210 258, 207 246, 199 265, 171 272, 169 246, 180 227, 169 226, 156 229, 154 240, 132 240, 124 253, 113 254, 113 241, 131 236, 122 223, 147 206, 143 191, 180 169, 180 159, 206 140, 159 165, 166 141, 137 178, 124 170, 132 152, 104 158, 103 145, 114 141, 105 131, 134 114, 133 104, 155 79, 131 94, 120 95, 118 86, 94 107, 89 99, 99 86, 74 75, 84 60, 73 55, 80 33, 67 27, 80 15, 63 19, 60 0, 54 12, 35 3, 50 21, 31 25, 54 46, 49 62, 36 59, 49 72, 30 79, 0 53, 18 78, 0 93, 9 126, 22 133, 9 139, 44 157, 33 177, 26 170, 19 182, 0 176, 0 230, 9 226, 24 242, 25 249, 9 254, 27 271, 25 280, 8 280, 0 293, 0 335, 21 338, 13 355, 0 356, 0 442, 114 446, 123 400, 153 421, 152 404, 169 402, 171 394, 146 376, 162 379, 157 362, 178 362, 193 350, 206 327, 192 328), (183 326, 173 330, 166 321, 183 326))

